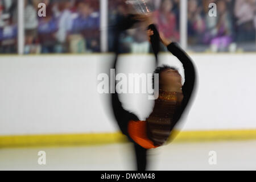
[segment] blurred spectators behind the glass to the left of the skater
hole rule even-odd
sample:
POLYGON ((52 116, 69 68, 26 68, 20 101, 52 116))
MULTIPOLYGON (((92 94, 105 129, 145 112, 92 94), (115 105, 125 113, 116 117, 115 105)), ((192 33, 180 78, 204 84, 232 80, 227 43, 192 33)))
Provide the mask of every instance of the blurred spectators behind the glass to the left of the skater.
MULTIPOLYGON (((24 0, 24 53, 100 52, 98 0, 24 0), (39 3, 46 16, 38 16, 39 3)), ((17 1, 0 0, 1 53, 16 51, 17 1)))

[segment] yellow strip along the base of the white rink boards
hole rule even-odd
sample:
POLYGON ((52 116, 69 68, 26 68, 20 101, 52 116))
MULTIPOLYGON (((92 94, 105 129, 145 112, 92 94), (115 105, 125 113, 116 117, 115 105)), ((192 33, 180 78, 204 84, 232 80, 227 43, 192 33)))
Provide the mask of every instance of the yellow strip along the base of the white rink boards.
MULTIPOLYGON (((174 131, 170 142, 210 142, 221 140, 256 139, 254 130, 216 130, 216 131, 174 131)), ((0 148, 9 147, 57 147, 57 146, 95 146, 101 144, 125 143, 121 133, 90 134, 47 134, 0 136, 0 148)))

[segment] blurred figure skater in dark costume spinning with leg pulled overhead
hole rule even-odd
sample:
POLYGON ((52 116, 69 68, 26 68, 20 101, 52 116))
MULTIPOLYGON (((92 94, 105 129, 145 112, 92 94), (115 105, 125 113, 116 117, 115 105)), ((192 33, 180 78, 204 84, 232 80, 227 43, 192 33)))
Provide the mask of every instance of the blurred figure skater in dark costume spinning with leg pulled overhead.
MULTIPOLYGON (((128 15, 115 28, 114 69, 118 62, 120 34, 133 27, 137 22, 145 21, 148 23, 147 17, 144 19, 139 17, 138 15, 128 15)), ((156 68, 154 73, 159 74, 159 97, 155 100, 152 113, 146 121, 139 121, 137 115, 123 109, 118 93, 112 94, 114 117, 122 133, 134 144, 138 171, 147 169, 148 149, 163 146, 170 137, 172 129, 180 120, 191 99, 196 80, 195 67, 191 59, 177 43, 167 40, 162 34, 159 35, 154 24, 148 26, 147 34, 156 57, 156 64, 158 63, 160 42, 162 42, 168 51, 183 64, 185 82, 184 85, 181 84, 181 76, 174 67, 163 65, 156 68)))

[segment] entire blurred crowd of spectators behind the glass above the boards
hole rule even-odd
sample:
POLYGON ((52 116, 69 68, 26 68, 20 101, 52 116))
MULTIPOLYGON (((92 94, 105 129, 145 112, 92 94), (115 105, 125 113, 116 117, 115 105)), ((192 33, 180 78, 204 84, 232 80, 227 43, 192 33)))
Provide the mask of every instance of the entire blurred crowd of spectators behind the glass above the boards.
MULTIPOLYGON (((99 0, 24 0, 24 53, 100 52, 99 0), (46 16, 38 16, 38 4, 46 16)), ((154 22, 166 38, 180 40, 180 0, 154 0, 154 22)), ((129 13, 124 0, 109 0, 108 47, 113 50, 112 27, 129 13)), ((17 0, 0 0, 0 53, 17 50, 17 0)), ((249 44, 255 49, 256 0, 188 0, 188 45, 212 51, 232 51, 249 44), (217 16, 209 16, 216 3, 217 16)), ((251 46, 250 46, 251 47, 251 46)), ((122 35, 122 52, 149 52, 141 28, 122 35)), ((201 51, 205 51, 202 49, 201 51)))

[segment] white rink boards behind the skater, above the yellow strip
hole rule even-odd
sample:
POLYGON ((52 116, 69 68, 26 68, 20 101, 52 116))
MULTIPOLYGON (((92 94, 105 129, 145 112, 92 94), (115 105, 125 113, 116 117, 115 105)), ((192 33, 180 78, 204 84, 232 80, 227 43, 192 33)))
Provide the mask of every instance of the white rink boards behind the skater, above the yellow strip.
MULTIPOLYGON (((183 130, 256 129, 256 55, 191 54, 199 73, 197 96, 183 130)), ((110 72, 112 55, 1 56, 0 135, 98 133, 118 130, 97 76, 110 72)), ((123 55, 118 72, 151 73, 152 55, 123 55)), ((160 63, 181 69, 176 57, 160 63)), ((182 69, 180 70, 183 74, 182 69)), ((121 97, 141 119, 146 95, 121 97)))

